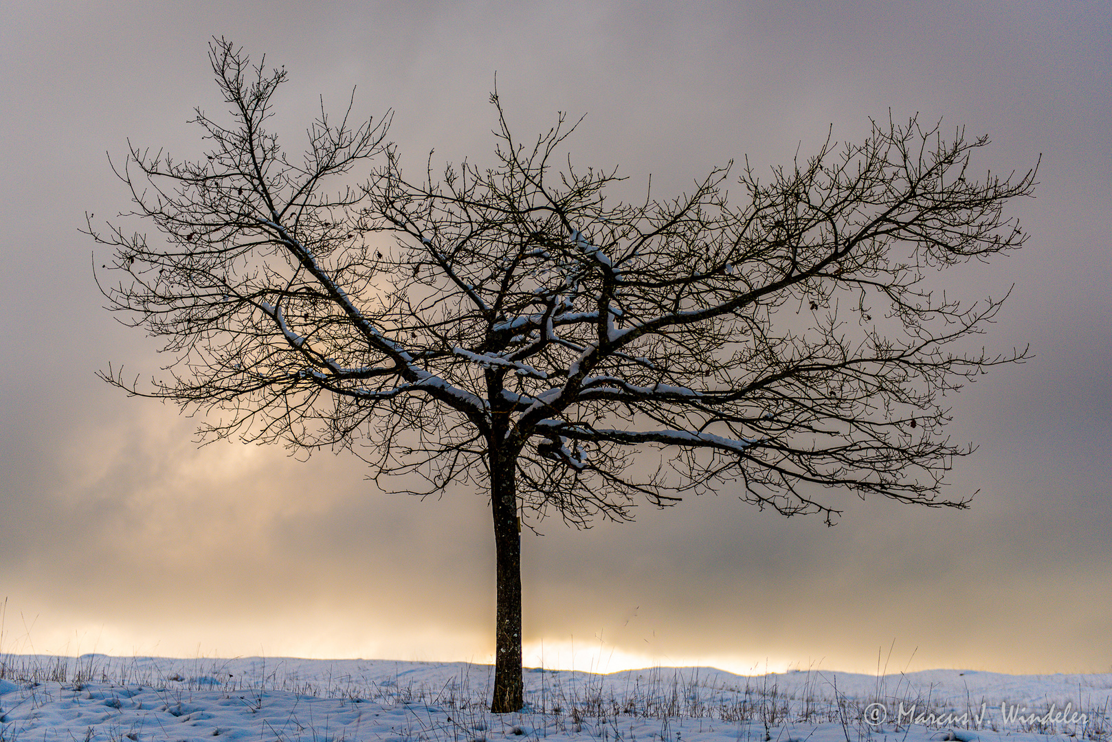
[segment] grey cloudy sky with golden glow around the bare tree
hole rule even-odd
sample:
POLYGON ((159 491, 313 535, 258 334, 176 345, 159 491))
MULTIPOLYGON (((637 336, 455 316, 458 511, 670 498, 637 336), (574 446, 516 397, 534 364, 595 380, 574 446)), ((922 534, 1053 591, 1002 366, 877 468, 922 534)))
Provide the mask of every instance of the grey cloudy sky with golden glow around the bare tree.
POLYGON ((195 421, 98 382, 149 374, 101 309, 78 233, 128 208, 106 152, 179 157, 219 110, 207 44, 285 65, 279 129, 324 96, 395 112, 409 162, 481 160, 495 73, 512 123, 587 118, 578 164, 656 194, 748 155, 806 154, 833 125, 915 112, 986 133, 974 165, 1026 170, 1027 246, 949 280, 1014 285, 990 349, 1031 345, 953 399, 980 445, 970 511, 851 501, 842 522, 717 497, 526 535, 526 662, 603 671, 1112 670, 1112 16, 1105 2, 3 2, 0 651, 488 661, 486 495, 420 502, 358 461, 198 449, 195 421), (891 659, 887 657, 891 655, 891 659))

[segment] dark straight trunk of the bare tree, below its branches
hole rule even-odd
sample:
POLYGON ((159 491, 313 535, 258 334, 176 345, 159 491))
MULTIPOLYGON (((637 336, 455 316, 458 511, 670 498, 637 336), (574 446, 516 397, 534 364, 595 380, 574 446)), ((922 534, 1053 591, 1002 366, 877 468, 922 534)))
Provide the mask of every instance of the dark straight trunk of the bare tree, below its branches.
POLYGON ((520 711, 522 681, 522 534, 517 526, 514 459, 492 452, 490 503, 497 574, 494 701, 492 713, 520 711))

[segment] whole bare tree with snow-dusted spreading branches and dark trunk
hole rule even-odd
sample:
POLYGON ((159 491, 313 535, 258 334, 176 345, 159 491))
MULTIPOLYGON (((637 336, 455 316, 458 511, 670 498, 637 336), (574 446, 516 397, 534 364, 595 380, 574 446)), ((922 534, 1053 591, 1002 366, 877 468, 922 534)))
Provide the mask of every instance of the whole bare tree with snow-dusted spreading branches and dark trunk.
POLYGON ((966 506, 940 488, 973 449, 945 436, 943 396, 1025 350, 959 353, 1001 299, 925 285, 1026 239, 1002 207, 1035 172, 973 177, 985 138, 874 123, 767 181, 744 168, 741 207, 729 167, 674 200, 610 202, 615 171, 563 159, 574 126, 519 142, 493 95, 494 167, 416 182, 388 118, 321 112, 287 159, 267 130, 286 72, 222 39, 210 57, 231 123, 197 109, 208 154, 132 147, 117 168, 161 239, 88 227, 121 276, 98 279, 109 309, 173 362, 149 386, 102 376, 207 413, 206 439, 341 447, 376 479, 487 488, 493 711, 523 705, 523 518, 627 521, 641 499, 724 487, 828 523, 830 488, 966 506))

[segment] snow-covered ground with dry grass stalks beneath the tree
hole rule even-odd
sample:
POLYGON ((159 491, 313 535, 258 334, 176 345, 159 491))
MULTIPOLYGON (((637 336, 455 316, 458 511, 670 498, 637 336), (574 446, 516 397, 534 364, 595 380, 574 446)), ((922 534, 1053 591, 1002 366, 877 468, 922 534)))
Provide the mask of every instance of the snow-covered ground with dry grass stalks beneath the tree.
POLYGON ((490 714, 492 669, 368 660, 0 655, 0 742, 1049 742, 1110 739, 1112 673, 897 675, 706 667, 526 671, 490 714))

